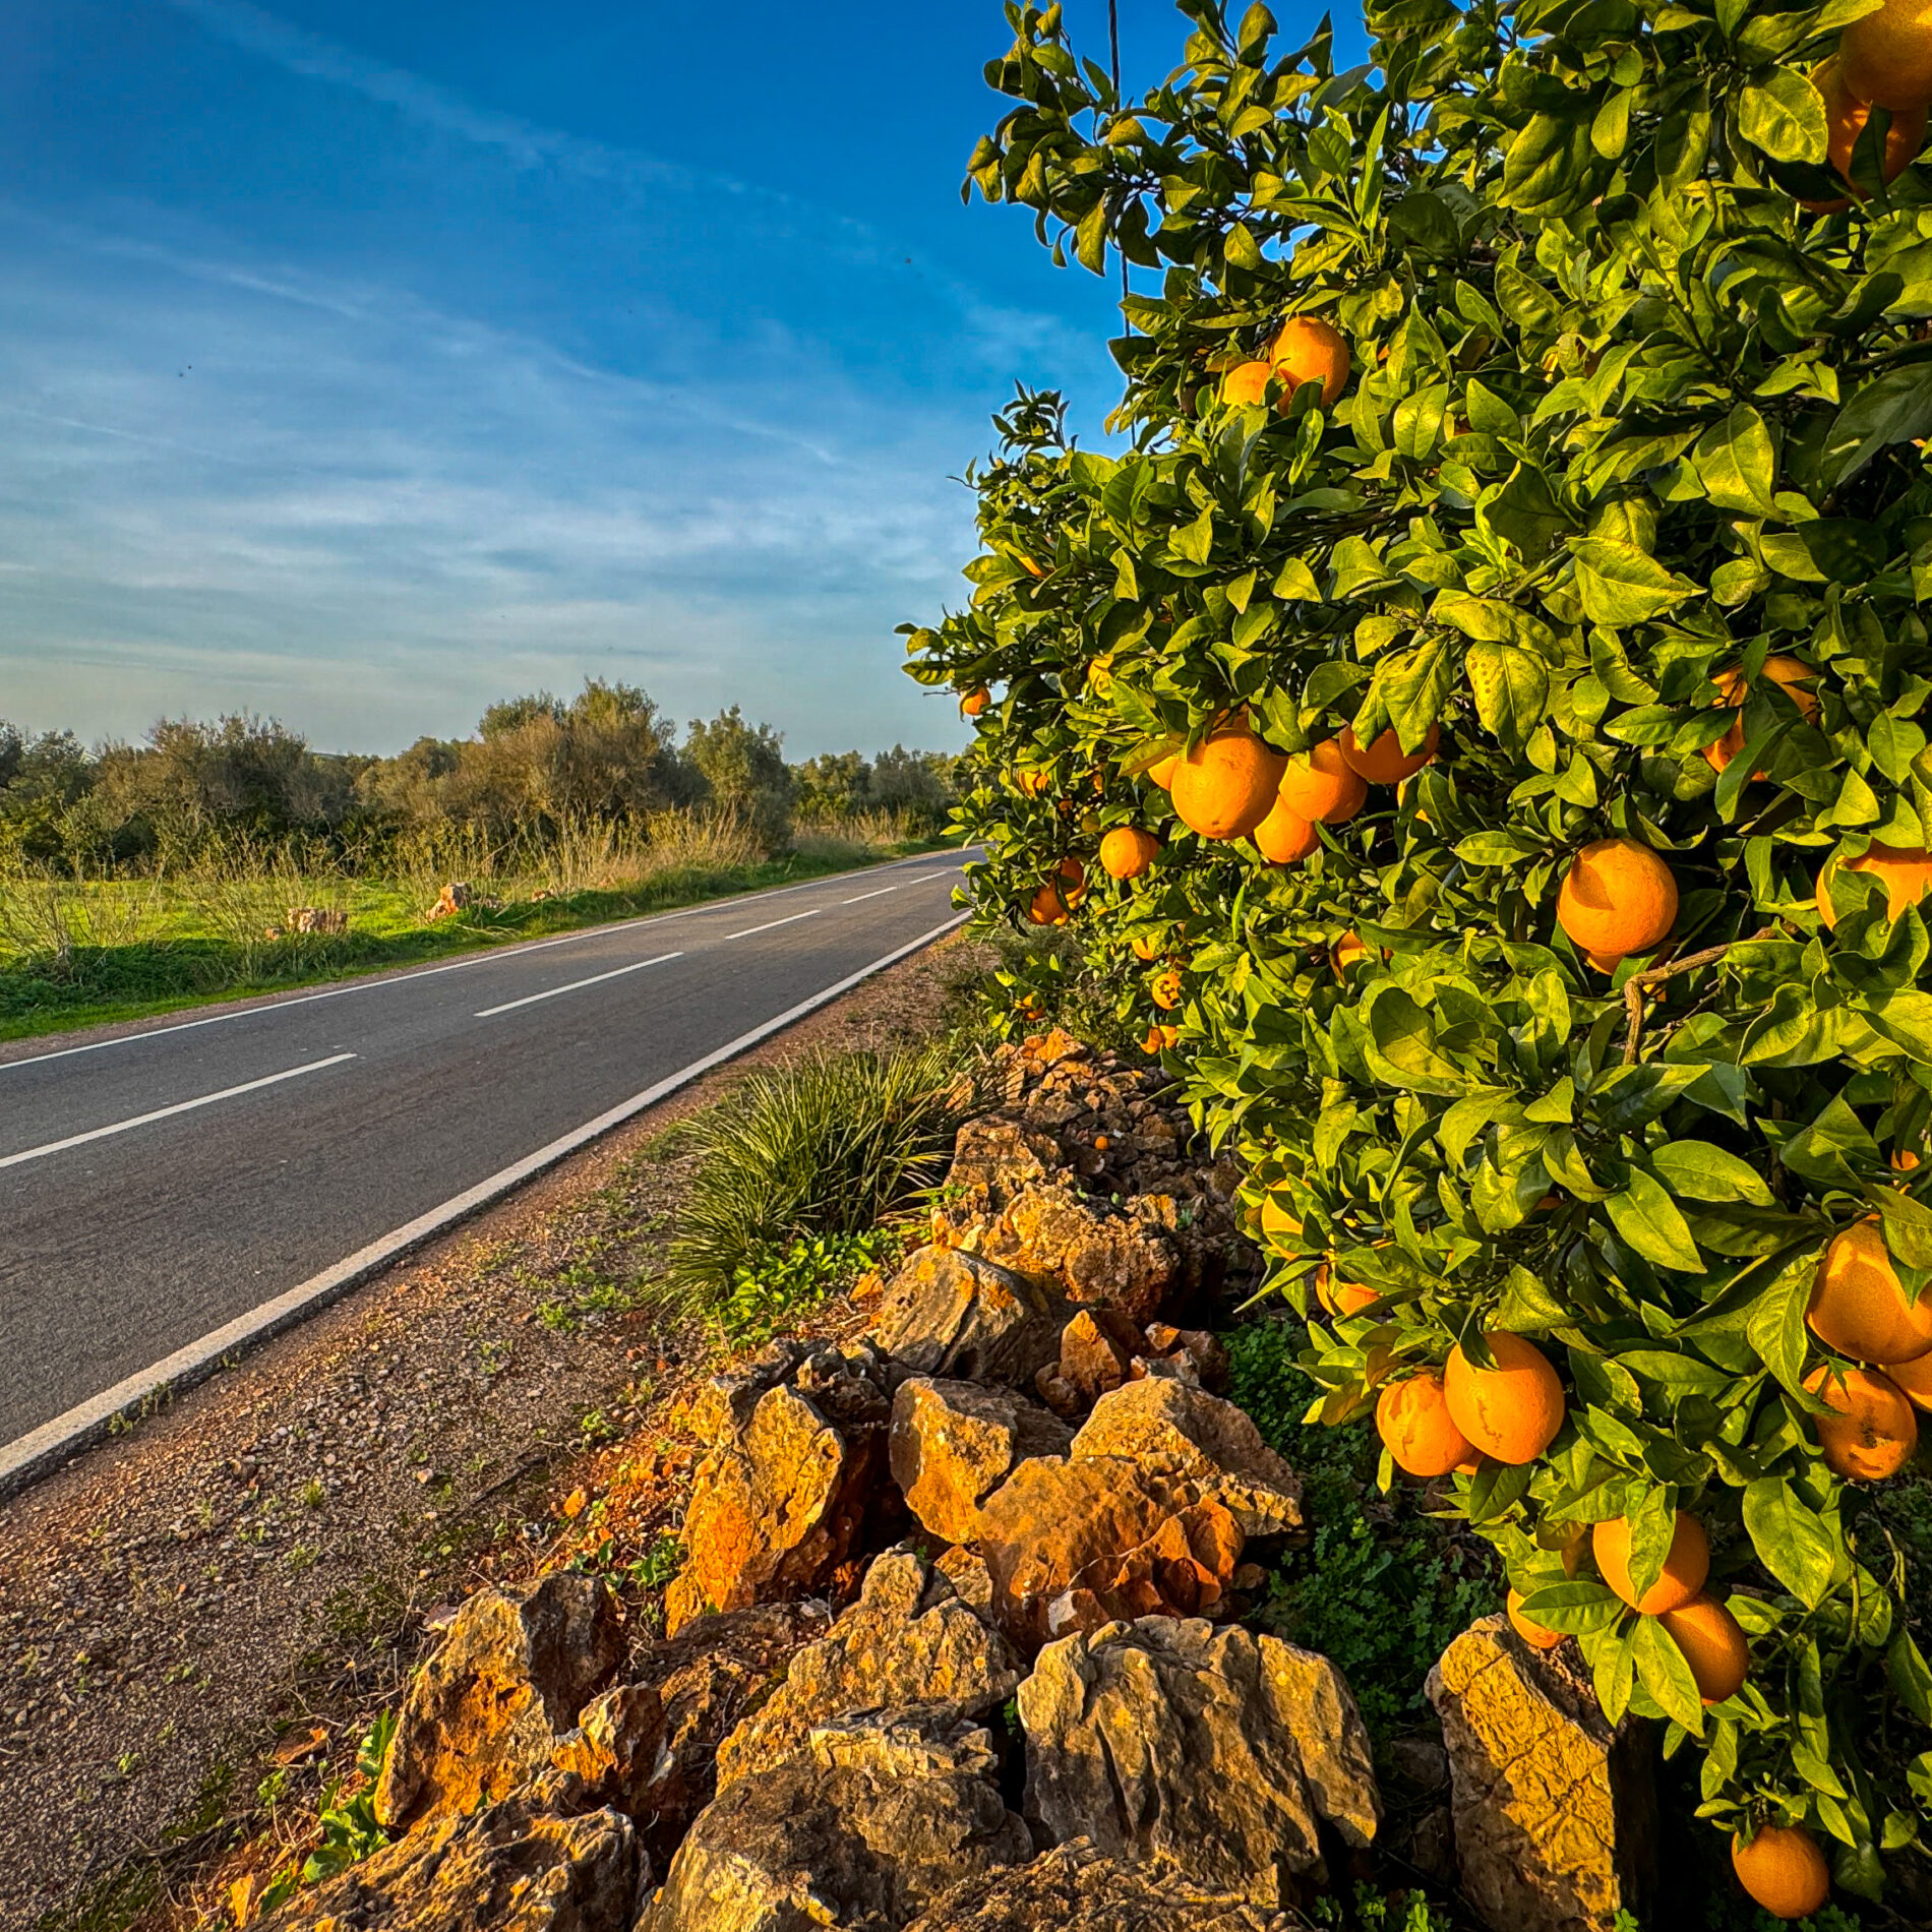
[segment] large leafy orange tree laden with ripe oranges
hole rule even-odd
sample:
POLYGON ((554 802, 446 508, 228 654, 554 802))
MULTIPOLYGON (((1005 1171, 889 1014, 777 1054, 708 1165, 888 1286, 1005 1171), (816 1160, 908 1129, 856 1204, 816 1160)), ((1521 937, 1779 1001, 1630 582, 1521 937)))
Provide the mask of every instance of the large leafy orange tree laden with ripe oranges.
POLYGON ((1843 73, 1862 14, 1932 95, 1926 29, 1393 0, 1337 71, 1180 12, 1138 100, 1059 8, 987 70, 968 193, 1142 292, 1119 454, 1022 392, 906 626, 993 694, 980 916, 1065 920, 1240 1148, 1310 1416, 1383 1406, 1741 1870, 1876 1895, 1932 1822, 1932 178, 1843 73))

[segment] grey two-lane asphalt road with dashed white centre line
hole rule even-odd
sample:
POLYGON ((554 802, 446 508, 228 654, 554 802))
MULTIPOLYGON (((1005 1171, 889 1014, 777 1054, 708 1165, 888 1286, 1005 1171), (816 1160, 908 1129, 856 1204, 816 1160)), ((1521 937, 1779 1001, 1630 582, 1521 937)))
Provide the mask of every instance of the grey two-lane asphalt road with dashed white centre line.
POLYGON ((956 918, 929 854, 0 1061, 6 1447, 956 918))

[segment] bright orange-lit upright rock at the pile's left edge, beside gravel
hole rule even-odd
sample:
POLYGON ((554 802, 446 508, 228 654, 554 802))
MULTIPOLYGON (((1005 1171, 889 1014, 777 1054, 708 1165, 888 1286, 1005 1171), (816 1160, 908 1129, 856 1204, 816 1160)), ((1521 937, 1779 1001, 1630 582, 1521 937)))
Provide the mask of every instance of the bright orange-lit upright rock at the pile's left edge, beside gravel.
POLYGON ((724 1430, 686 1505, 684 1569, 665 1592, 670 1634, 707 1609, 810 1590, 844 1563, 885 1461, 887 1412, 879 1397, 879 1424, 840 1430, 779 1383, 724 1430))

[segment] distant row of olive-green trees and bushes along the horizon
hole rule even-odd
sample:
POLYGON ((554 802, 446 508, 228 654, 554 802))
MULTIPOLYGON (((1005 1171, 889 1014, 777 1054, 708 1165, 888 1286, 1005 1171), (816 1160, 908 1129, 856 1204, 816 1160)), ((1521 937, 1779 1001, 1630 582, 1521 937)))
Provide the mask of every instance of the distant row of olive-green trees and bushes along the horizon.
POLYGON ((647 825, 663 811, 742 817, 781 850, 798 821, 898 815, 945 825, 954 759, 893 746, 790 765, 736 705, 678 728, 632 684, 585 682, 491 705, 469 738, 417 738, 396 757, 317 752, 257 717, 162 719, 143 744, 89 750, 70 730, 0 721, 0 860, 153 869, 213 846, 299 846, 377 867, 396 838, 464 831, 543 844, 568 825, 647 825))

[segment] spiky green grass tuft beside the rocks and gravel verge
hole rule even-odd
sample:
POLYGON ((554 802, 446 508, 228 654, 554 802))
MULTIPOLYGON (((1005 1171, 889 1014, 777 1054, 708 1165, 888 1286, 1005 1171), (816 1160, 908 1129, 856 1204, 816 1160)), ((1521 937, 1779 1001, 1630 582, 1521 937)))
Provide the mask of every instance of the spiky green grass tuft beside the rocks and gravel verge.
POLYGON ((752 1074, 686 1130, 697 1171, 670 1279, 719 1306, 794 1242, 889 1223, 945 1177, 976 1103, 952 1045, 819 1053, 752 1074))

